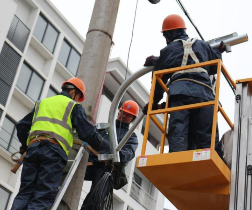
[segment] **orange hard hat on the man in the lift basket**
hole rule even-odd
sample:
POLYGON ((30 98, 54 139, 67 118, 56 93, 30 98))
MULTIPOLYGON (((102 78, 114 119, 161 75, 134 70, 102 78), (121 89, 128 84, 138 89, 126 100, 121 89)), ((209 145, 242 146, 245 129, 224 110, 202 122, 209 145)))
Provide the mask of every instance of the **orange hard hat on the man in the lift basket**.
POLYGON ((185 22, 182 17, 179 15, 168 15, 164 21, 162 26, 162 31, 170 31, 173 29, 184 28, 186 29, 185 22))

